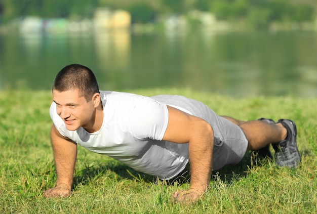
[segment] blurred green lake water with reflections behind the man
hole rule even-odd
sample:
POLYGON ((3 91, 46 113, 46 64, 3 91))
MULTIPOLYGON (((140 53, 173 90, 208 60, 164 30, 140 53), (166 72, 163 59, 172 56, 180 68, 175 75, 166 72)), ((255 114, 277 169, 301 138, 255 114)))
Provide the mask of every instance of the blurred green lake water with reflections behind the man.
POLYGON ((315 32, 0 35, 0 89, 50 90, 80 63, 101 90, 186 87, 236 97, 317 96, 315 32))

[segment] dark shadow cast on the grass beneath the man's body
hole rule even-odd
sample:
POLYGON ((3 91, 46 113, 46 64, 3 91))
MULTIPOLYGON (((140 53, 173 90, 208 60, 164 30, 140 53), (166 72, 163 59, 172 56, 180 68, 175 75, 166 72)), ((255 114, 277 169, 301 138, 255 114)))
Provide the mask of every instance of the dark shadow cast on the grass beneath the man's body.
MULTIPOLYGON (((268 160, 264 159, 263 157, 257 158, 254 157, 252 153, 247 153, 239 164, 234 166, 224 166, 222 169, 214 171, 212 173, 211 180, 217 181, 220 179, 224 183, 231 184, 232 181, 236 179, 245 178, 248 175, 250 168, 256 165, 263 165, 267 161, 268 160)), ((95 181, 105 174, 107 174, 108 178, 113 178, 118 181, 128 179, 131 181, 137 180, 140 182, 155 183, 158 180, 156 177, 140 173, 120 162, 102 163, 97 166, 86 167, 80 170, 80 172, 78 172, 74 177, 73 188, 76 188, 76 186, 80 184, 86 185, 87 183, 95 181)), ((174 185, 177 183, 178 185, 182 185, 187 182, 189 183, 189 181, 190 170, 189 168, 185 168, 174 179, 166 181, 166 184, 174 185)))

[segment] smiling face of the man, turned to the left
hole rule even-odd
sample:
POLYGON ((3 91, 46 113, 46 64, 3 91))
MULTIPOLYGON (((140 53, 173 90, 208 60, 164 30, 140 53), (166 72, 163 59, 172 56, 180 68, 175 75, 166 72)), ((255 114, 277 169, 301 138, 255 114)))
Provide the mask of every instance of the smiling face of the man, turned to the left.
POLYGON ((85 97, 80 97, 78 89, 65 92, 53 90, 53 101, 56 103, 57 114, 63 119, 67 130, 75 131, 81 126, 89 129, 93 125, 93 102, 87 102, 85 97))

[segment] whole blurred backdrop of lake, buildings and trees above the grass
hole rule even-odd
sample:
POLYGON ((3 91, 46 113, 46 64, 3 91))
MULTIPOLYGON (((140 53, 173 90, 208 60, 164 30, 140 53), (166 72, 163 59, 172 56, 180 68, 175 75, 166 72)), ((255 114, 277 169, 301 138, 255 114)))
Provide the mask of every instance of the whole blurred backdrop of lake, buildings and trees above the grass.
POLYGON ((79 63, 101 90, 317 96, 316 0, 0 0, 0 90, 79 63))

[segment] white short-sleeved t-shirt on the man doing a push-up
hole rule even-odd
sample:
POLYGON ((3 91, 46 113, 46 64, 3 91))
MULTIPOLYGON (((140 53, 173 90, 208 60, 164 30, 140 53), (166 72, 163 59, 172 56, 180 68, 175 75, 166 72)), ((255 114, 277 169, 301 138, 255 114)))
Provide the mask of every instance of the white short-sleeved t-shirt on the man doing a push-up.
POLYGON ((172 179, 185 168, 188 143, 162 141, 169 118, 166 104, 129 93, 101 91, 100 95, 103 123, 91 134, 83 127, 68 131, 53 102, 50 115, 60 134, 92 152, 160 179, 172 179))

